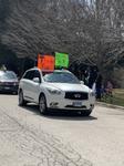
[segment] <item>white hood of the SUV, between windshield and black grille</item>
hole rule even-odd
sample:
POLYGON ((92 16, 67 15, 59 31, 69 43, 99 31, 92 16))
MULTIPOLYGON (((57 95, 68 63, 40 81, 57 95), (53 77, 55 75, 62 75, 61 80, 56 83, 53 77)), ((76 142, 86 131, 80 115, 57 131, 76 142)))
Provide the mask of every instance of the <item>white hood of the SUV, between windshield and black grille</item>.
POLYGON ((83 84, 69 84, 69 83, 48 83, 49 87, 55 87, 65 92, 89 92, 90 89, 83 84))

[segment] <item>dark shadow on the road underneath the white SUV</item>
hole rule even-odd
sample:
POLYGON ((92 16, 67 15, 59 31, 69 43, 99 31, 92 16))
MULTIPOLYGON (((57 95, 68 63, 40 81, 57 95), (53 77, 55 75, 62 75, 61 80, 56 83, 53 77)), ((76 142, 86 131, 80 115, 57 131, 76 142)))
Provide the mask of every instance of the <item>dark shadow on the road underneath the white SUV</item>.
POLYGON ((28 104, 24 106, 27 111, 30 111, 39 116, 43 116, 45 118, 51 120, 66 120, 66 121, 94 121, 97 120, 97 117, 92 116, 83 116, 80 112, 73 112, 73 111, 50 111, 46 115, 41 115, 39 112, 39 106, 34 104, 28 104))

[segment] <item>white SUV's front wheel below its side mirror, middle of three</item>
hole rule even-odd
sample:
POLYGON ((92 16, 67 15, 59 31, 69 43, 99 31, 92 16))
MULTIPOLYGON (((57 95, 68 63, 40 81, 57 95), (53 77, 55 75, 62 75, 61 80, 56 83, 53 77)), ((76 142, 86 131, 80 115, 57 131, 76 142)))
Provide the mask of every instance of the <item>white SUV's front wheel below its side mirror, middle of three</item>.
POLYGON ((39 111, 43 115, 45 115, 48 113, 46 100, 45 100, 44 94, 40 95, 40 98, 39 98, 39 111))

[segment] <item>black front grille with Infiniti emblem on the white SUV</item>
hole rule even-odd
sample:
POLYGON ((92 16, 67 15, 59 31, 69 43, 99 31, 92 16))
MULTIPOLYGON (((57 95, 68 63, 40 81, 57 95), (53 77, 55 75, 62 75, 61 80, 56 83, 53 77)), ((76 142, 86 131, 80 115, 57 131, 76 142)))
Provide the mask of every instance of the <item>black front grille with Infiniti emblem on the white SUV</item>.
POLYGON ((65 92, 65 98, 69 100, 87 100, 89 94, 86 92, 65 92))

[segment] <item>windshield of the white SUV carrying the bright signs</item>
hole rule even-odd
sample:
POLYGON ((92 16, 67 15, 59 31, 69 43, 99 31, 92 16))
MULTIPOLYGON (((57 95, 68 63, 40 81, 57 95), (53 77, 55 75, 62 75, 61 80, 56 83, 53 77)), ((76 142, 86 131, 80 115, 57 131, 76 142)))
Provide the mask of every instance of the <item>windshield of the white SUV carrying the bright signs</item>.
POLYGON ((68 72, 49 73, 45 74, 43 79, 45 82, 51 82, 51 83, 80 84, 80 81, 72 73, 68 73, 68 72))

